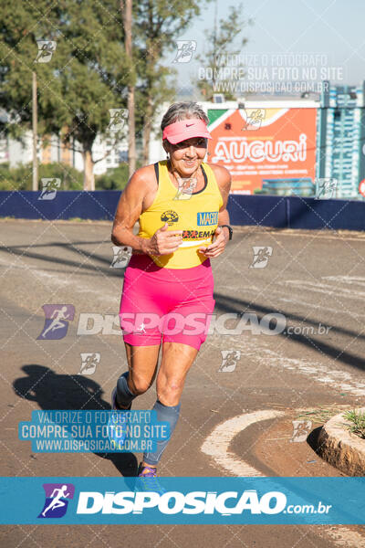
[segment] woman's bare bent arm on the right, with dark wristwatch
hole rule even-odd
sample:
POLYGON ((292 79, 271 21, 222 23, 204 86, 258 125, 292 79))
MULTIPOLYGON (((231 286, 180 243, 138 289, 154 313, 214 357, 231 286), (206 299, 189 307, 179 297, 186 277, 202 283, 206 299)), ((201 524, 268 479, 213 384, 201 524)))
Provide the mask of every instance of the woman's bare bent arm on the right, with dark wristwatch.
POLYGON ((224 248, 229 240, 229 230, 221 225, 229 225, 229 214, 226 209, 229 191, 231 190, 231 174, 225 167, 217 164, 210 164, 210 167, 214 171, 215 180, 218 184, 219 190, 222 195, 223 204, 218 213, 218 227, 215 230, 214 242, 205 248, 199 248, 199 251, 205 255, 205 257, 218 257, 224 252, 224 248))

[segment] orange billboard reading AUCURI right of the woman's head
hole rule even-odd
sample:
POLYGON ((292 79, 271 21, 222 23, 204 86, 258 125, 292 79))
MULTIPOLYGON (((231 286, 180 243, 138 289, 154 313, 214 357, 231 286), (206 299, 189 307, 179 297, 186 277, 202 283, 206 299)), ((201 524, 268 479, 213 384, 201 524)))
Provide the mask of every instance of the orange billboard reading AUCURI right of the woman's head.
POLYGON ((254 194, 263 179, 315 178, 315 108, 208 111, 209 162, 232 174, 232 192, 254 194), (214 120, 215 118, 215 120, 214 120))

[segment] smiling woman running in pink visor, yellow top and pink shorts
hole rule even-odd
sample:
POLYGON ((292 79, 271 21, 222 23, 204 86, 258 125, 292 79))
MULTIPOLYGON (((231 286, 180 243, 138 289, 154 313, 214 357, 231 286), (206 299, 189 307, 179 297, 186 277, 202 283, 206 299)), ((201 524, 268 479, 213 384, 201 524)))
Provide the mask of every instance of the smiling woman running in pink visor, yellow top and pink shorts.
MULTIPOLYGON (((210 258, 224 252, 232 237, 226 210, 231 186, 222 166, 204 163, 208 118, 194 102, 172 104, 162 118, 167 160, 137 170, 120 196, 111 240, 130 246, 120 300, 129 371, 112 393, 113 409, 130 409, 157 373, 159 421, 168 421, 170 437, 180 413, 186 374, 206 338, 214 311, 210 258), (139 221, 140 230, 133 235, 139 221)), ((156 477, 169 440, 146 452, 140 477, 156 477)))

